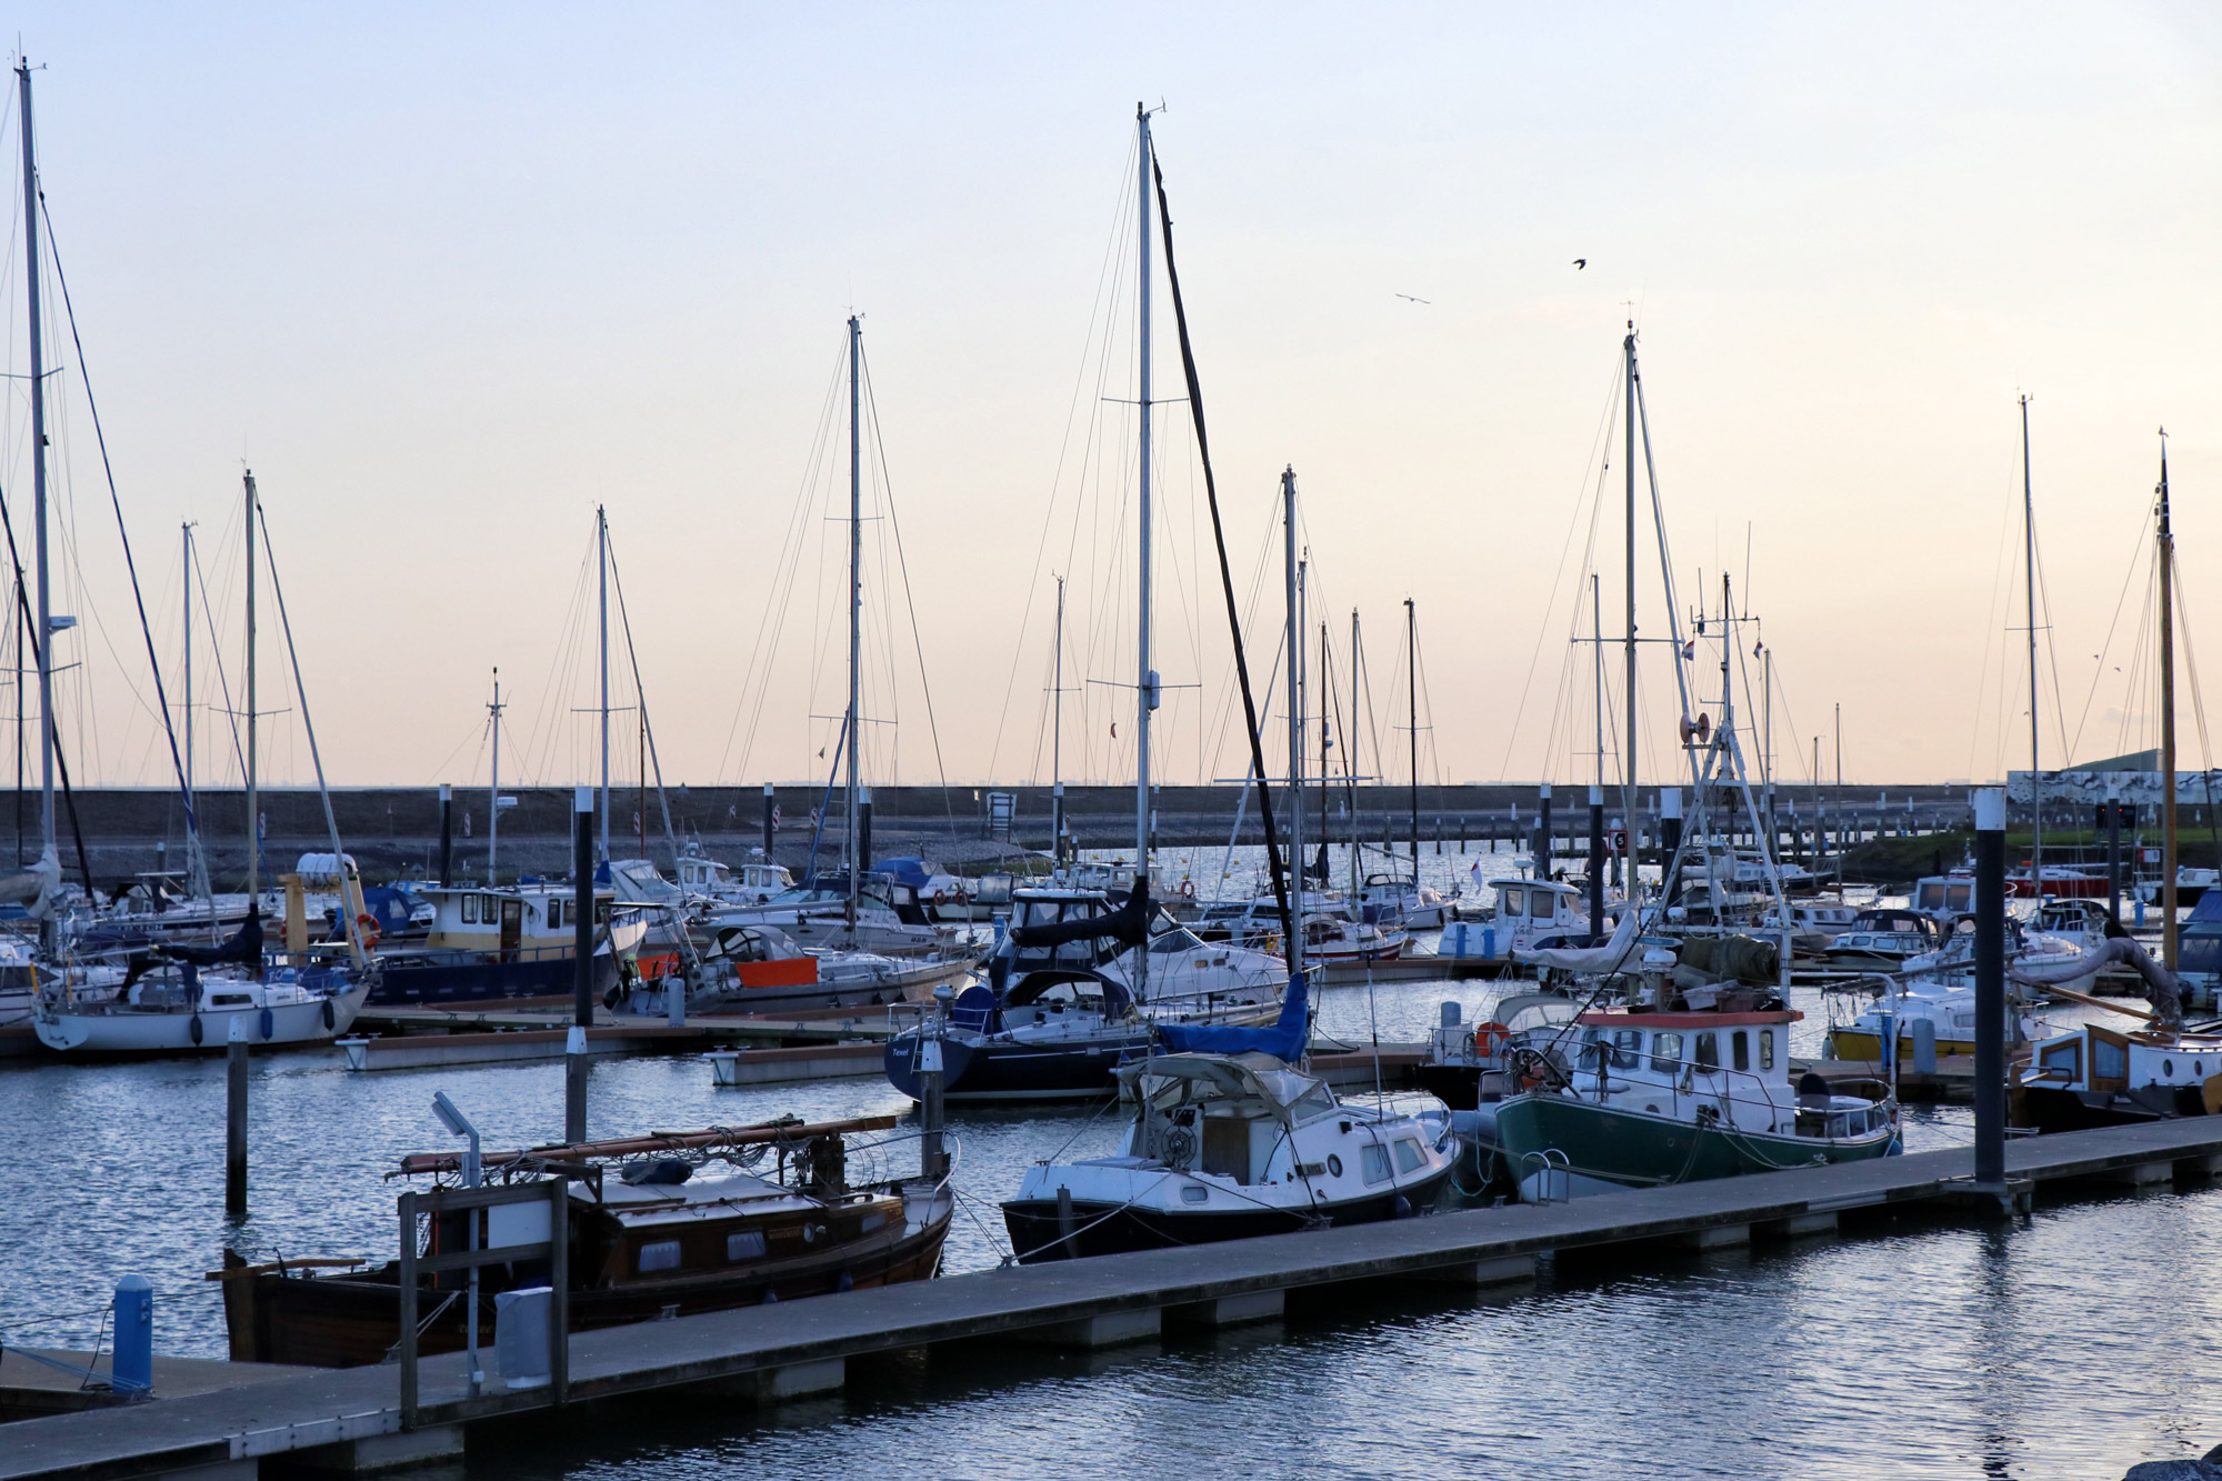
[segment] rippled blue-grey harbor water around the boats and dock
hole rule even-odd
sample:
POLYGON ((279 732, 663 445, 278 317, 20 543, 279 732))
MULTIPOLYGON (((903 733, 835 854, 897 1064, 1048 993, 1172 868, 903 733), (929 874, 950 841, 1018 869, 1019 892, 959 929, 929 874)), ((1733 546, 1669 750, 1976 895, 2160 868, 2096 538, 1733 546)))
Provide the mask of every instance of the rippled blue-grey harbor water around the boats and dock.
MULTIPOLYGON (((1484 863, 1509 856, 1480 856, 1484 863)), ((1435 865, 1433 856, 1424 858, 1435 865)), ((1442 876, 1473 858, 1444 856, 1442 876)), ((1438 874, 1438 867, 1429 867, 1438 874)), ((1491 869, 1495 874, 1495 869, 1491 869)), ((1320 1027, 1420 1038, 1482 983, 1335 987, 1320 1027)), ((1800 992, 1798 1047, 1820 994, 1800 992)), ((116 1279, 158 1292, 158 1345, 220 1356, 220 1252, 376 1254, 404 1152, 451 1145, 447 1090, 489 1147, 547 1141, 560 1065, 347 1074, 336 1054, 253 1063, 253 1214, 222 1216, 222 1065, 0 1065, 0 1339, 89 1345, 116 1279)), ((591 1130, 775 1114, 907 1114, 882 1081, 718 1090, 700 1058, 595 1067, 591 1130)), ((1906 1112, 1913 1150, 1964 1110, 1906 1112)), ((1002 1259, 995 1201, 1042 1156, 1113 1150, 1115 1110, 958 1112, 951 1270, 1002 1259)), ((915 1143, 878 1154, 915 1165, 915 1143)), ((869 1163, 869 1156, 862 1159, 869 1163)), ((1898 1223, 1649 1265, 1547 1265, 1533 1288, 1333 1294, 1284 1323, 1115 1354, 991 1345, 860 1365, 844 1396, 758 1417, 664 1401, 473 1443, 493 1479, 1318 1474, 2115 1477, 2222 1439, 2206 1321, 2222 1310, 2222 1190, 2040 1205, 2022 1227, 1898 1223)))

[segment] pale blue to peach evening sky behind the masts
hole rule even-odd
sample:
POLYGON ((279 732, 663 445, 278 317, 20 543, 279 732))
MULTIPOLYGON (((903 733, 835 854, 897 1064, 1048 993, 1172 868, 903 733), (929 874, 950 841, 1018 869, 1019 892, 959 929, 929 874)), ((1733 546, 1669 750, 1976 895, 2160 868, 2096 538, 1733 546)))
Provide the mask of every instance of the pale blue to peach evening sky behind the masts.
MULTIPOLYGON (((598 772, 598 505, 624 587, 613 774, 640 769, 638 660, 664 781, 824 776, 858 314, 867 781, 1049 781, 1058 576, 1062 774, 1131 781, 1138 100, 1162 109, 1273 767, 1293 469, 1335 765, 1355 738, 1360 774, 1409 774, 1409 598, 1424 778, 1593 772, 1591 654, 1569 638, 1591 549, 1607 638, 1624 625, 1631 316, 1678 605, 1718 618, 1726 569, 1760 618, 1738 629, 1738 709, 1769 709, 1764 643, 1784 778, 1809 776, 1815 740, 1833 776, 1838 738, 1846 781, 1878 785, 2026 765, 2024 394, 2044 765, 2151 745, 2160 427, 2186 765, 2202 756, 2189 680, 2222 654, 2209 7, 18 4, 13 22, 82 340, 49 302, 56 609, 82 616, 56 643, 76 665, 56 714, 84 778, 162 785, 173 763, 80 365, 200 781, 238 776, 244 467, 336 785, 487 785, 496 667, 504 781, 598 772), (184 520, 213 605, 191 692, 184 520)), ((0 153, 20 158, 13 116, 0 153)), ((20 187, 9 209, 0 487, 29 560, 20 187)), ((1244 745, 1162 256, 1153 298, 1153 765, 1189 783, 1235 776, 1244 745)), ((1638 620, 1664 638, 1649 485, 1642 503, 1638 620)), ((262 769, 311 781, 267 580, 262 769)), ((1675 761, 1669 654, 1642 649, 1647 783, 1675 761)), ((1618 665, 1615 647, 1613 734, 1618 665)), ((1718 718, 1713 647, 1698 680, 1691 709, 1718 718)))

